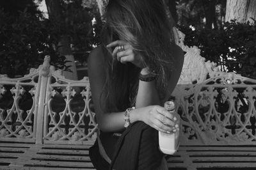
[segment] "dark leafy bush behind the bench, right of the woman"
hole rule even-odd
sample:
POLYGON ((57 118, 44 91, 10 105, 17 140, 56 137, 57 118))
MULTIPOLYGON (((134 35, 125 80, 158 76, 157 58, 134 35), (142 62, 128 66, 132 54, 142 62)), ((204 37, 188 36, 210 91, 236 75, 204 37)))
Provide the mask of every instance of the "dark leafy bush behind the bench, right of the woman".
POLYGON ((224 29, 196 29, 179 27, 185 44, 196 45, 206 60, 221 65, 223 71, 236 72, 256 79, 256 21, 245 24, 231 20, 224 29))

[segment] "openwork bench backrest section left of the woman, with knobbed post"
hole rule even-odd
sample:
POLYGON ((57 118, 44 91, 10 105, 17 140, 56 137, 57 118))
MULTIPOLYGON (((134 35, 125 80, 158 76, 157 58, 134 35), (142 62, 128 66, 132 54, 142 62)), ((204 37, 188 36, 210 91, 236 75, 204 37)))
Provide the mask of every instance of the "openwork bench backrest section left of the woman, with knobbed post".
POLYGON ((0 79, 0 141, 92 144, 97 123, 88 77, 71 81, 44 64, 19 79, 0 79), (13 98, 13 99, 12 99, 13 98), (3 104, 8 100, 8 104, 3 104), (21 108, 22 107, 22 108, 21 108))

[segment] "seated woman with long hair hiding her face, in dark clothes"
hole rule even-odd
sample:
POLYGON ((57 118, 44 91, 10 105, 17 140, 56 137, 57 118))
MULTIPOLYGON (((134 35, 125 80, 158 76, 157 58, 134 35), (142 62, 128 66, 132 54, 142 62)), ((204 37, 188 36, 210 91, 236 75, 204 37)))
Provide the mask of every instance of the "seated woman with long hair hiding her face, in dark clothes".
MULTIPOLYGON (((162 1, 109 0, 102 45, 88 58, 99 137, 97 169, 161 169, 158 132, 175 130, 164 109, 182 70, 162 1)), ((162 168, 163 169, 163 168, 162 168)))

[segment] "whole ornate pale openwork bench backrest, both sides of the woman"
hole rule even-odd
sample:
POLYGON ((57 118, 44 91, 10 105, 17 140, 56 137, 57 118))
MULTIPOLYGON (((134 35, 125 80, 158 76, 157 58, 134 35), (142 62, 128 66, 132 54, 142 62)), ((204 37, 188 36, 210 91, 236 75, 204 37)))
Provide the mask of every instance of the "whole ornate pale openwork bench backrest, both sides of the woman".
MULTIPOLYGON (((173 91, 182 118, 182 145, 256 144, 256 81, 220 72, 198 47, 186 52, 173 91)), ((19 79, 0 77, 0 141, 92 144, 97 123, 88 77, 71 81, 54 70, 49 56, 19 79)))

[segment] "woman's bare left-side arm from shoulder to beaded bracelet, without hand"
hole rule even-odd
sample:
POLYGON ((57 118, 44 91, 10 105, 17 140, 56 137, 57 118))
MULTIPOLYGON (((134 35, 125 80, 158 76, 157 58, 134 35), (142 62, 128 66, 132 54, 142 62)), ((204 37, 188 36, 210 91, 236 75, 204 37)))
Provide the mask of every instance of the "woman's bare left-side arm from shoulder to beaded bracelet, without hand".
POLYGON ((97 123, 100 130, 115 132, 124 128, 124 112, 104 113, 102 107, 105 107, 104 98, 106 93, 102 93, 106 80, 106 63, 102 47, 94 49, 88 57, 88 76, 92 90, 92 100, 96 112, 97 123), (102 96, 101 96, 102 95, 102 96), (103 100, 100 101, 100 96, 103 100))

